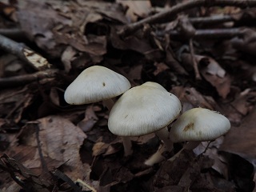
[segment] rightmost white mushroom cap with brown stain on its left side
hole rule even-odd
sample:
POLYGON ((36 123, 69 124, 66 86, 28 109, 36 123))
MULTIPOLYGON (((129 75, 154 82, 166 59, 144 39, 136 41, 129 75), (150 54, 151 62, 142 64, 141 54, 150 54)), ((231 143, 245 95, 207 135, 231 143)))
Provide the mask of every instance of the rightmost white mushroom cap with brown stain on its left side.
POLYGON ((230 121, 216 111, 194 108, 174 122, 170 138, 174 142, 210 141, 230 130, 230 121))

